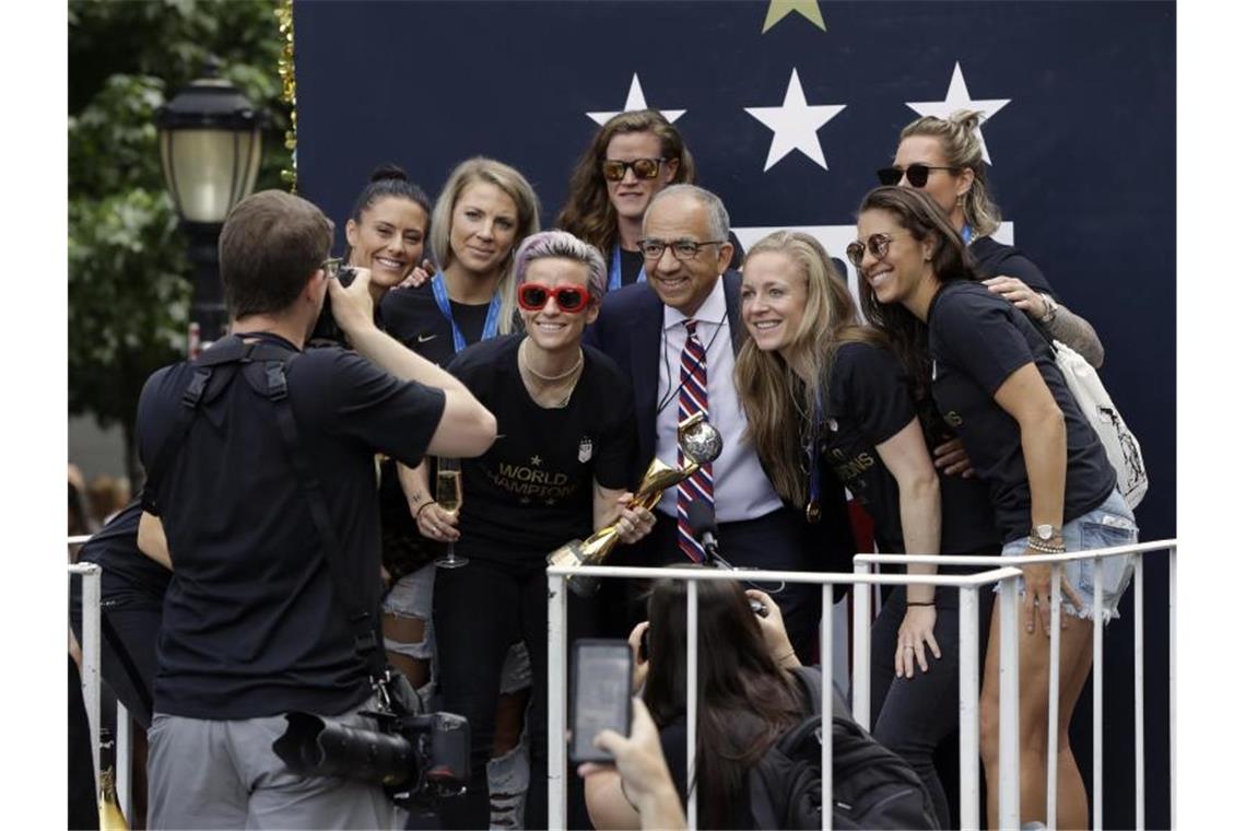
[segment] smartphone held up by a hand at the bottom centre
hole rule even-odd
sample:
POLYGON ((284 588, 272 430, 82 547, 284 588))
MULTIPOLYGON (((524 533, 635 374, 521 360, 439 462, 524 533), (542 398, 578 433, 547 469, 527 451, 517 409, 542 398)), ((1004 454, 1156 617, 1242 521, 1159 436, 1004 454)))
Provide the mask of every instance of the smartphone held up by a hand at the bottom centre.
POLYGON ((632 648, 627 640, 576 642, 571 701, 571 761, 611 761, 608 753, 593 746, 593 738, 606 728, 624 736, 632 731, 632 648))

